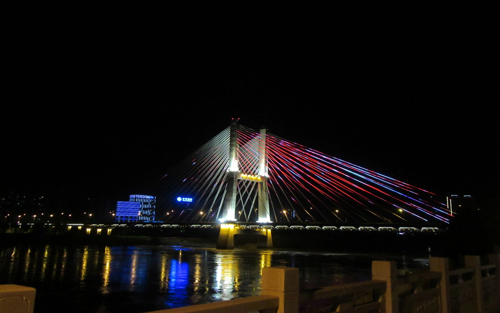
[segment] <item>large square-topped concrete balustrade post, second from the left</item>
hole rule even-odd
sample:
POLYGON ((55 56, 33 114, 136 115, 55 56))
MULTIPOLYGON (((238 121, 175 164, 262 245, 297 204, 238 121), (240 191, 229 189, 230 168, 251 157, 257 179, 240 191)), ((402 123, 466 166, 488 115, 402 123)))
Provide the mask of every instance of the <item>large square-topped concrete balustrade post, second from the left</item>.
POLYGON ((298 313, 298 268, 262 268, 262 294, 279 298, 277 313, 298 313))

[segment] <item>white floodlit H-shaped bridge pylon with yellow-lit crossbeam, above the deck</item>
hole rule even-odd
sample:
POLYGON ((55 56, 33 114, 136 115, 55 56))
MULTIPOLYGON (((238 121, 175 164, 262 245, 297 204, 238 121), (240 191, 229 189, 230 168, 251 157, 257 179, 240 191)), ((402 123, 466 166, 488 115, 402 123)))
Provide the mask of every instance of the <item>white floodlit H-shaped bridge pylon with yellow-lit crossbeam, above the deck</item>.
MULTIPOLYGON (((269 215, 269 193, 267 189, 268 167, 265 145, 266 129, 260 129, 260 136, 255 137, 258 140, 258 159, 255 159, 255 168, 258 173, 242 173, 238 166, 238 119, 232 119, 229 134, 229 162, 227 168, 227 185, 223 200, 223 211, 221 221, 235 221, 236 212, 236 194, 239 180, 253 181, 258 184, 258 220, 259 223, 270 222, 269 215)), ((256 142, 255 142, 256 144, 256 142)))

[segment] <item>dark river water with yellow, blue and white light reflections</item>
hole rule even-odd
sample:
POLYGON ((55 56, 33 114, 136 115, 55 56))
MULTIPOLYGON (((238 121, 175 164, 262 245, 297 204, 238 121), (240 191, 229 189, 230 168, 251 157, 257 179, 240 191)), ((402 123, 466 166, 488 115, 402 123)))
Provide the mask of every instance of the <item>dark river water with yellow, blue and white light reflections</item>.
POLYGON ((264 266, 298 267, 300 289, 370 279, 371 260, 400 272, 427 256, 186 246, 0 247, 0 284, 36 288, 35 312, 146 312, 260 293, 264 266))

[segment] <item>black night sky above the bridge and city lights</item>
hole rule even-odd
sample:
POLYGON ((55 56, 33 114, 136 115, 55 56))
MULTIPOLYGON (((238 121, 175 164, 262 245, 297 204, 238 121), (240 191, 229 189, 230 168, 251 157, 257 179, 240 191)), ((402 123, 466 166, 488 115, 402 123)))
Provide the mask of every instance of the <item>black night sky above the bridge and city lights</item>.
POLYGON ((492 8, 38 6, 7 19, 0 193, 124 201, 237 117, 499 206, 492 8))

